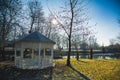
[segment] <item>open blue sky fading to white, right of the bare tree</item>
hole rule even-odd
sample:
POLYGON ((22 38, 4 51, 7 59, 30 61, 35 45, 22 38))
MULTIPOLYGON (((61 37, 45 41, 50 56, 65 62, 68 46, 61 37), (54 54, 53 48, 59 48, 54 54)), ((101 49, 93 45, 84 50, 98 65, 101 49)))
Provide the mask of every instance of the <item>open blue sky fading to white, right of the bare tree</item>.
POLYGON ((93 0, 90 3, 90 16, 96 22, 97 40, 99 44, 109 45, 109 40, 116 38, 120 32, 117 23, 119 9, 114 0, 93 0))

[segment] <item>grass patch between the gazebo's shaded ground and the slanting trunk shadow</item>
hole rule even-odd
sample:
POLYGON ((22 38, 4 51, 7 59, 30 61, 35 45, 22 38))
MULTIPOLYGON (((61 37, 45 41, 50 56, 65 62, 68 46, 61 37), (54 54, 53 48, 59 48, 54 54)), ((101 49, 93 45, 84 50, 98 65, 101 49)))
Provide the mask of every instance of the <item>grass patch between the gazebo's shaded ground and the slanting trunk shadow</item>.
POLYGON ((55 60, 54 80, 83 80, 83 78, 70 67, 65 65, 65 59, 55 60))

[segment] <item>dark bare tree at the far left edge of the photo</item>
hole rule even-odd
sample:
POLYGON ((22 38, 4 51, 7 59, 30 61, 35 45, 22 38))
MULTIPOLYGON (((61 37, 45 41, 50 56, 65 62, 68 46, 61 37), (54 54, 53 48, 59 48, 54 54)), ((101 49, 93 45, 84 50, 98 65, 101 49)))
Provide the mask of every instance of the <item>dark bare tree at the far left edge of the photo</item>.
POLYGON ((13 30, 13 26, 18 26, 18 15, 21 9, 20 0, 0 0, 0 47, 4 58, 5 40, 13 30))

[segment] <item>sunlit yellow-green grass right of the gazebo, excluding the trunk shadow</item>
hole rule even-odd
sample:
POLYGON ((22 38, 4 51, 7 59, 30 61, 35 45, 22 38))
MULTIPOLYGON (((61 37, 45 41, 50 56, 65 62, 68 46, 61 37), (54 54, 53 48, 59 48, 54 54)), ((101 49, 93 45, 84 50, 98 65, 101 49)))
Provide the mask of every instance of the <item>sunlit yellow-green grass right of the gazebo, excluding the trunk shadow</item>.
MULTIPOLYGON (((55 80, 83 80, 74 69, 67 67, 66 59, 54 61, 55 80)), ((92 80, 120 80, 120 60, 71 59, 72 67, 92 80)))

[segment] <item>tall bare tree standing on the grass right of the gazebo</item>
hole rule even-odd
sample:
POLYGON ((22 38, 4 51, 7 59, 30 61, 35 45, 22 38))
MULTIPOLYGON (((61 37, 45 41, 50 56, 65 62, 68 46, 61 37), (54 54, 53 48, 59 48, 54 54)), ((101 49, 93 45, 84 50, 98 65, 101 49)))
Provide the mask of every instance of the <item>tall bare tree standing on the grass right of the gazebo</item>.
POLYGON ((67 66, 71 65, 70 55, 72 33, 79 31, 81 29, 81 23, 84 23, 87 20, 85 12, 83 12, 84 9, 84 0, 69 0, 61 7, 59 15, 55 15, 59 26, 62 27, 68 38, 69 51, 67 55, 67 66))

